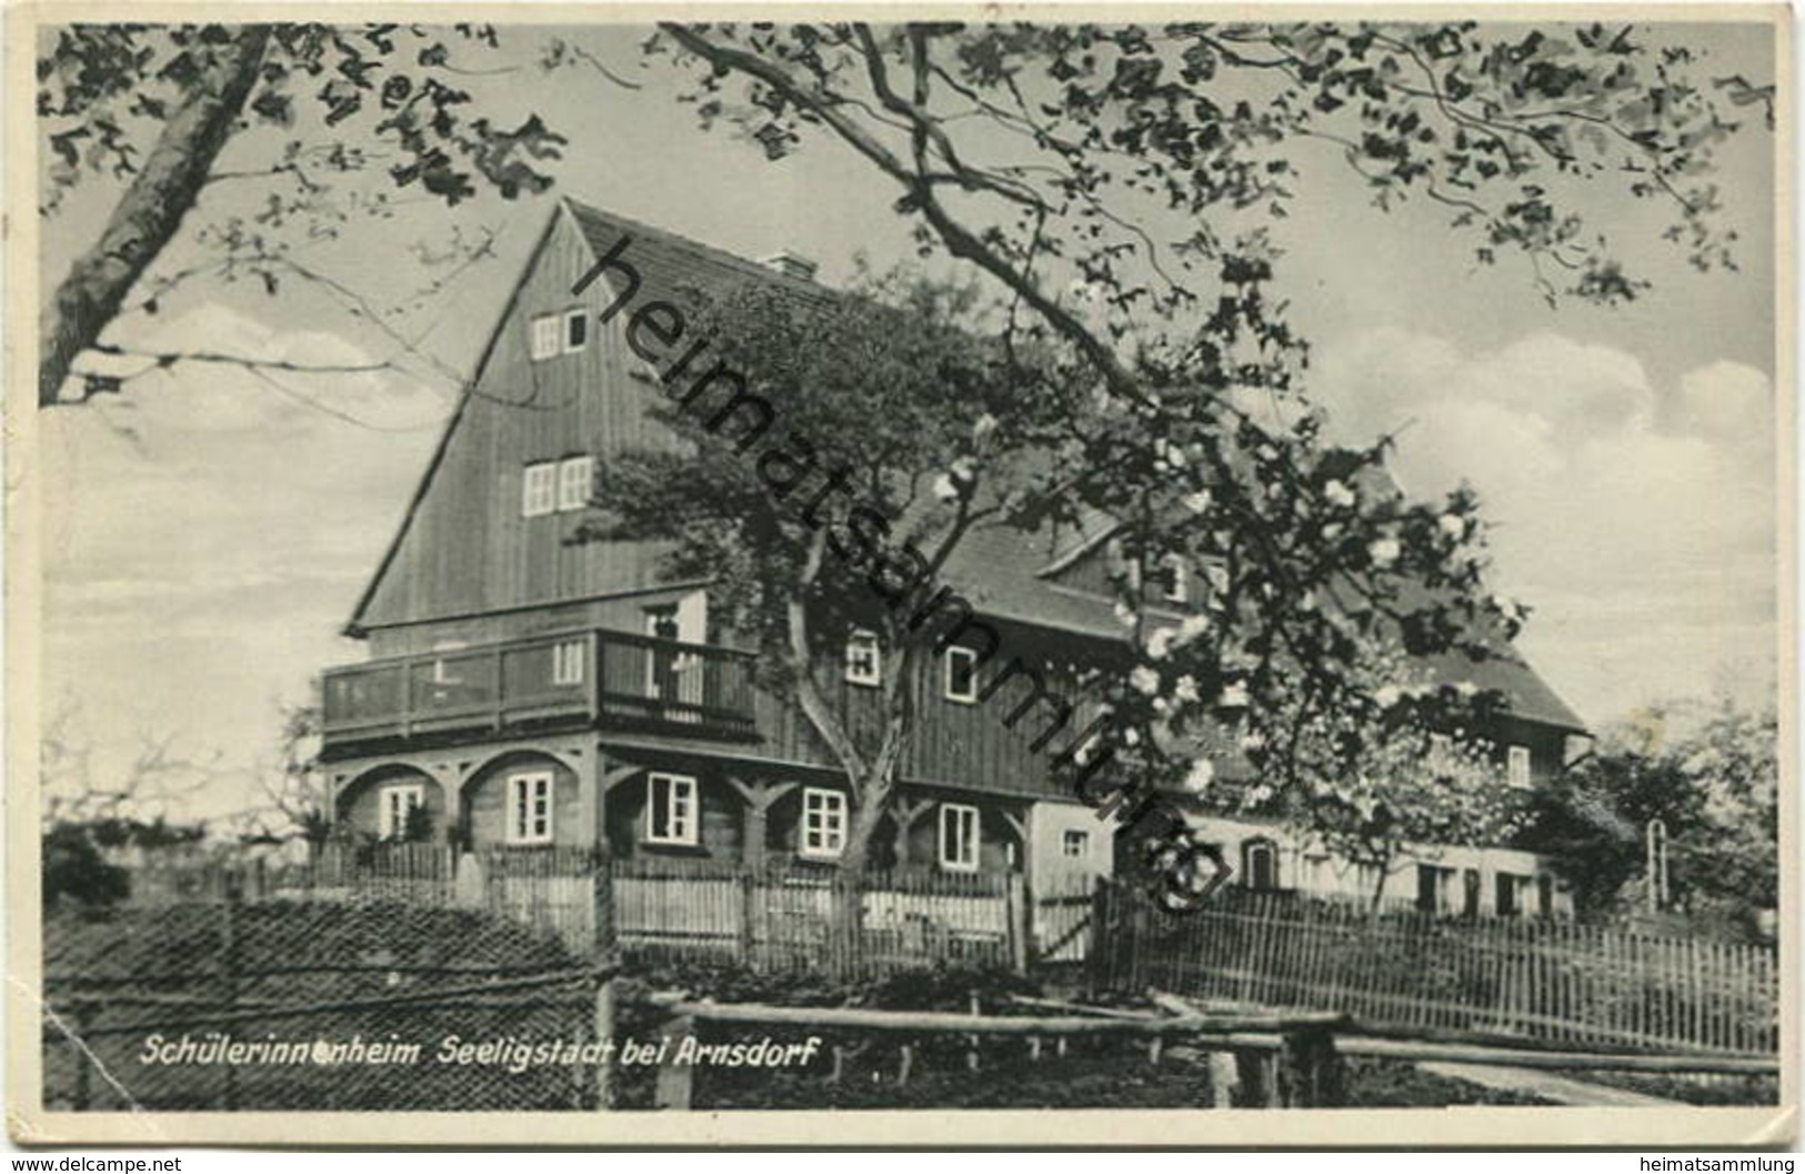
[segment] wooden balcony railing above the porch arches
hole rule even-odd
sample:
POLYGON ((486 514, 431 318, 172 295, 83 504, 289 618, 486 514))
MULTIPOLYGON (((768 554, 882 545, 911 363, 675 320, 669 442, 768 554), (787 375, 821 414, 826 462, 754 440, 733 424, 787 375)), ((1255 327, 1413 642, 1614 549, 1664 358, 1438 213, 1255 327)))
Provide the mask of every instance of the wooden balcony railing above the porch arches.
POLYGON ((565 632, 329 668, 327 744, 534 722, 751 739, 753 657, 630 632, 565 632))

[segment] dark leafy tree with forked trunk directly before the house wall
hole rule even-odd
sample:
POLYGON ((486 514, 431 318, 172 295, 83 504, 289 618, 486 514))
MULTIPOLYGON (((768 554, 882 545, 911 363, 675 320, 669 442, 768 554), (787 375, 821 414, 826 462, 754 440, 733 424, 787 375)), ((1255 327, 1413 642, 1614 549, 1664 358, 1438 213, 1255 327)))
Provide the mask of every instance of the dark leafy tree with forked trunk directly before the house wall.
POLYGON ((675 538, 668 569, 713 580, 711 618, 762 652, 764 685, 847 769, 843 860, 859 869, 915 728, 913 603, 975 527, 1056 477, 1045 457, 1085 397, 967 332, 967 289, 910 275, 819 300, 695 291, 695 312, 717 367, 745 387, 699 372, 668 388, 657 417, 682 448, 610 462, 579 538, 675 538), (870 730, 830 701, 854 629, 883 647, 870 730))

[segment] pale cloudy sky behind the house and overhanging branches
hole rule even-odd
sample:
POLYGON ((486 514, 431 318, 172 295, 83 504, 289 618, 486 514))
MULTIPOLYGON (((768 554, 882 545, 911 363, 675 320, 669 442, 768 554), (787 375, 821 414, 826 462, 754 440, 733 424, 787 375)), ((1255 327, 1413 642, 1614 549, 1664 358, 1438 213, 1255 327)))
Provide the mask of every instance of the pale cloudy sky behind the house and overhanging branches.
MULTIPOLYGON (((637 34, 635 34, 637 36, 637 34)), ((473 81, 502 125, 527 112, 570 135, 558 191, 749 256, 796 249, 843 280, 857 253, 906 256, 892 193, 827 144, 782 164, 693 128, 635 36, 572 34, 596 72, 554 83, 473 81)), ((1771 74, 1762 29, 1684 29, 1709 72, 1771 74)), ((247 135, 224 161, 253 163, 247 135)), ((1312 340, 1312 392, 1347 439, 1402 428, 1395 471, 1437 493, 1466 479, 1495 524, 1496 585, 1534 614, 1522 647, 1583 717, 1605 724, 1666 697, 1774 679, 1773 144, 1745 134, 1722 186, 1742 233, 1740 273, 1695 275, 1655 237, 1648 208, 1605 206, 1623 251, 1655 280, 1619 311, 1547 307, 1529 275, 1475 269, 1446 217, 1374 211, 1334 161, 1278 226, 1280 285, 1312 340)), ((105 215, 90 186, 45 233, 56 280, 105 215)), ((209 188, 190 228, 242 211, 209 188)), ((431 204, 309 249, 307 264, 375 303, 430 284, 410 251, 495 233, 495 256, 395 320, 467 370, 551 200, 431 204)), ((173 247, 164 269, 200 258, 173 247)), ((108 341, 206 347, 305 363, 397 356, 390 334, 319 287, 267 298, 193 282, 108 341)), ((47 661, 43 697, 69 715, 97 769, 144 737, 173 737, 220 769, 195 809, 244 806, 274 757, 278 713, 323 665, 361 647, 338 636, 401 518, 455 385, 401 354, 408 374, 253 377, 184 363, 101 406, 43 415, 47 661)))

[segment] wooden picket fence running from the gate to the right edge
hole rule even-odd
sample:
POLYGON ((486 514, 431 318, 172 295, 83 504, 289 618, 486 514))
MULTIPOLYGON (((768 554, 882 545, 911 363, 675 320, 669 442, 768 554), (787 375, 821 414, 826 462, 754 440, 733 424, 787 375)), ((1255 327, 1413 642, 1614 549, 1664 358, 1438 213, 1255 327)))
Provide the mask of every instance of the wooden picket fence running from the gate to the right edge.
POLYGON ((1186 916, 1099 887, 1092 983, 1570 1044, 1778 1051, 1773 948, 1226 890, 1186 916))

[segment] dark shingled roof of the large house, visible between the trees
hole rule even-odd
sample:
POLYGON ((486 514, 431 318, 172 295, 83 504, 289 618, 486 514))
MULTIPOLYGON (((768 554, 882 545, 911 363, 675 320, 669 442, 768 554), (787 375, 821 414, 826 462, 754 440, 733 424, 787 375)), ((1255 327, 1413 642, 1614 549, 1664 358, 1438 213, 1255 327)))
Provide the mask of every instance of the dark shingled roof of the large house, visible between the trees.
MULTIPOLYGON (((597 256, 616 247, 621 237, 632 237, 626 256, 648 293, 670 298, 680 294, 684 287, 718 289, 727 284, 762 282, 789 289, 810 302, 839 296, 814 282, 787 276, 630 217, 570 199, 565 206, 597 256)), ((646 293, 639 300, 644 296, 646 293)), ((1123 639, 1126 630, 1115 620, 1112 600, 1060 585, 1047 574, 1052 564, 1069 558, 1076 547, 1097 536, 1096 524, 1063 535, 1058 542, 1047 533, 1025 533, 1002 524, 980 526, 953 553, 942 578, 982 614, 1079 636, 1123 639)), ((1585 730, 1585 722, 1509 645, 1484 661, 1448 654, 1430 657, 1430 666, 1444 683, 1471 681, 1480 690, 1504 694, 1507 712, 1516 717, 1563 730, 1585 730)))

